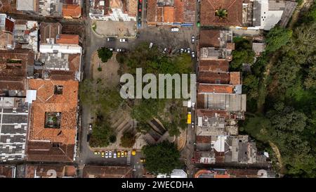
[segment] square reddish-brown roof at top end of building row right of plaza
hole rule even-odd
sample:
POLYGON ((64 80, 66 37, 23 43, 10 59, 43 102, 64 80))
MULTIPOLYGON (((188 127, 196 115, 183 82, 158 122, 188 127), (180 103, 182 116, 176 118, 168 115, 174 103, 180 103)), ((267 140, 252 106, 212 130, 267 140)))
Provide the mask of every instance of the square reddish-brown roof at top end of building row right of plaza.
POLYGON ((220 30, 201 30, 199 32, 199 47, 215 47, 220 46, 220 30))

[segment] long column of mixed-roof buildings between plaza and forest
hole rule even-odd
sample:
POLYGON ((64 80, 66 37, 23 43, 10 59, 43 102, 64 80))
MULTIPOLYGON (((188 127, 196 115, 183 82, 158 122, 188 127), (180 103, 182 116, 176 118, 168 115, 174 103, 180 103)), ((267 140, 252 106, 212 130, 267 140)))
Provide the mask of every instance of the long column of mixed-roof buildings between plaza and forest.
POLYGON ((201 164, 265 162, 256 143, 239 135, 246 94, 242 75, 230 72, 235 44, 230 30, 201 30, 197 63, 196 146, 193 161, 201 164))

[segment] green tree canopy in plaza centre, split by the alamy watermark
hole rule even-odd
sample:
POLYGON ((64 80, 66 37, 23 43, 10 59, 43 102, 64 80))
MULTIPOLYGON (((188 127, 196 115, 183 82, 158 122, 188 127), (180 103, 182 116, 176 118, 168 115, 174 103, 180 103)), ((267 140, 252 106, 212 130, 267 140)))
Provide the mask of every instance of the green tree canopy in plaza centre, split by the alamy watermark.
MULTIPOLYGON (((190 55, 166 56, 156 46, 148 49, 147 43, 137 46, 134 51, 122 58, 121 62, 127 66, 127 72, 133 75, 136 74, 136 68, 142 68, 143 74, 152 73, 154 75, 190 74, 192 72, 190 55)), ((131 116, 138 121, 138 132, 149 131, 150 126, 147 125, 147 122, 157 117, 169 130, 171 136, 180 134, 178 128, 187 127, 187 124, 183 123, 186 115, 183 111, 182 101, 182 99, 135 99, 131 116)))

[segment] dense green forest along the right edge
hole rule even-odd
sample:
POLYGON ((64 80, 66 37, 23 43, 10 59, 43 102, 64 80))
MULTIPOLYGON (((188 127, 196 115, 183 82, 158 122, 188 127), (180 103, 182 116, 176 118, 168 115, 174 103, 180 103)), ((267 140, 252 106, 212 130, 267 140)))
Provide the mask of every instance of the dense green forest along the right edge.
POLYGON ((314 5, 293 32, 270 30, 265 53, 252 73, 244 74, 248 102, 258 108, 251 109, 256 115, 246 118, 242 129, 265 147, 277 146, 278 169, 286 177, 316 177, 315 13, 314 5))

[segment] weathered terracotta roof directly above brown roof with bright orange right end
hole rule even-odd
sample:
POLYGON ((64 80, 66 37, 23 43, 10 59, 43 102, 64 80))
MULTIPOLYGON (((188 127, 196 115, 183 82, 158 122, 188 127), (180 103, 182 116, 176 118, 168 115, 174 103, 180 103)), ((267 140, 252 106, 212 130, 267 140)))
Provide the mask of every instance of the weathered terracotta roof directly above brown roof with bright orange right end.
POLYGON ((199 60, 199 71, 228 72, 228 60, 199 60))

